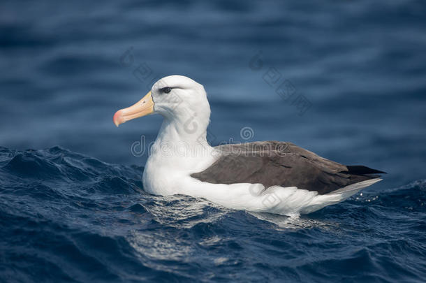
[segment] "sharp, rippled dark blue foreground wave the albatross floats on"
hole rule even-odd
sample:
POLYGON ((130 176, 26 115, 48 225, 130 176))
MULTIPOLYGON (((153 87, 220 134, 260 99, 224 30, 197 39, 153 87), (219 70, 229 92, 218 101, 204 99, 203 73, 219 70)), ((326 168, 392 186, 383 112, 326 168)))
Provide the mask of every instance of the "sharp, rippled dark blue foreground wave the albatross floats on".
POLYGON ((152 196, 142 170, 61 147, 0 147, 0 278, 391 282, 426 274, 426 180, 289 218, 152 196))

